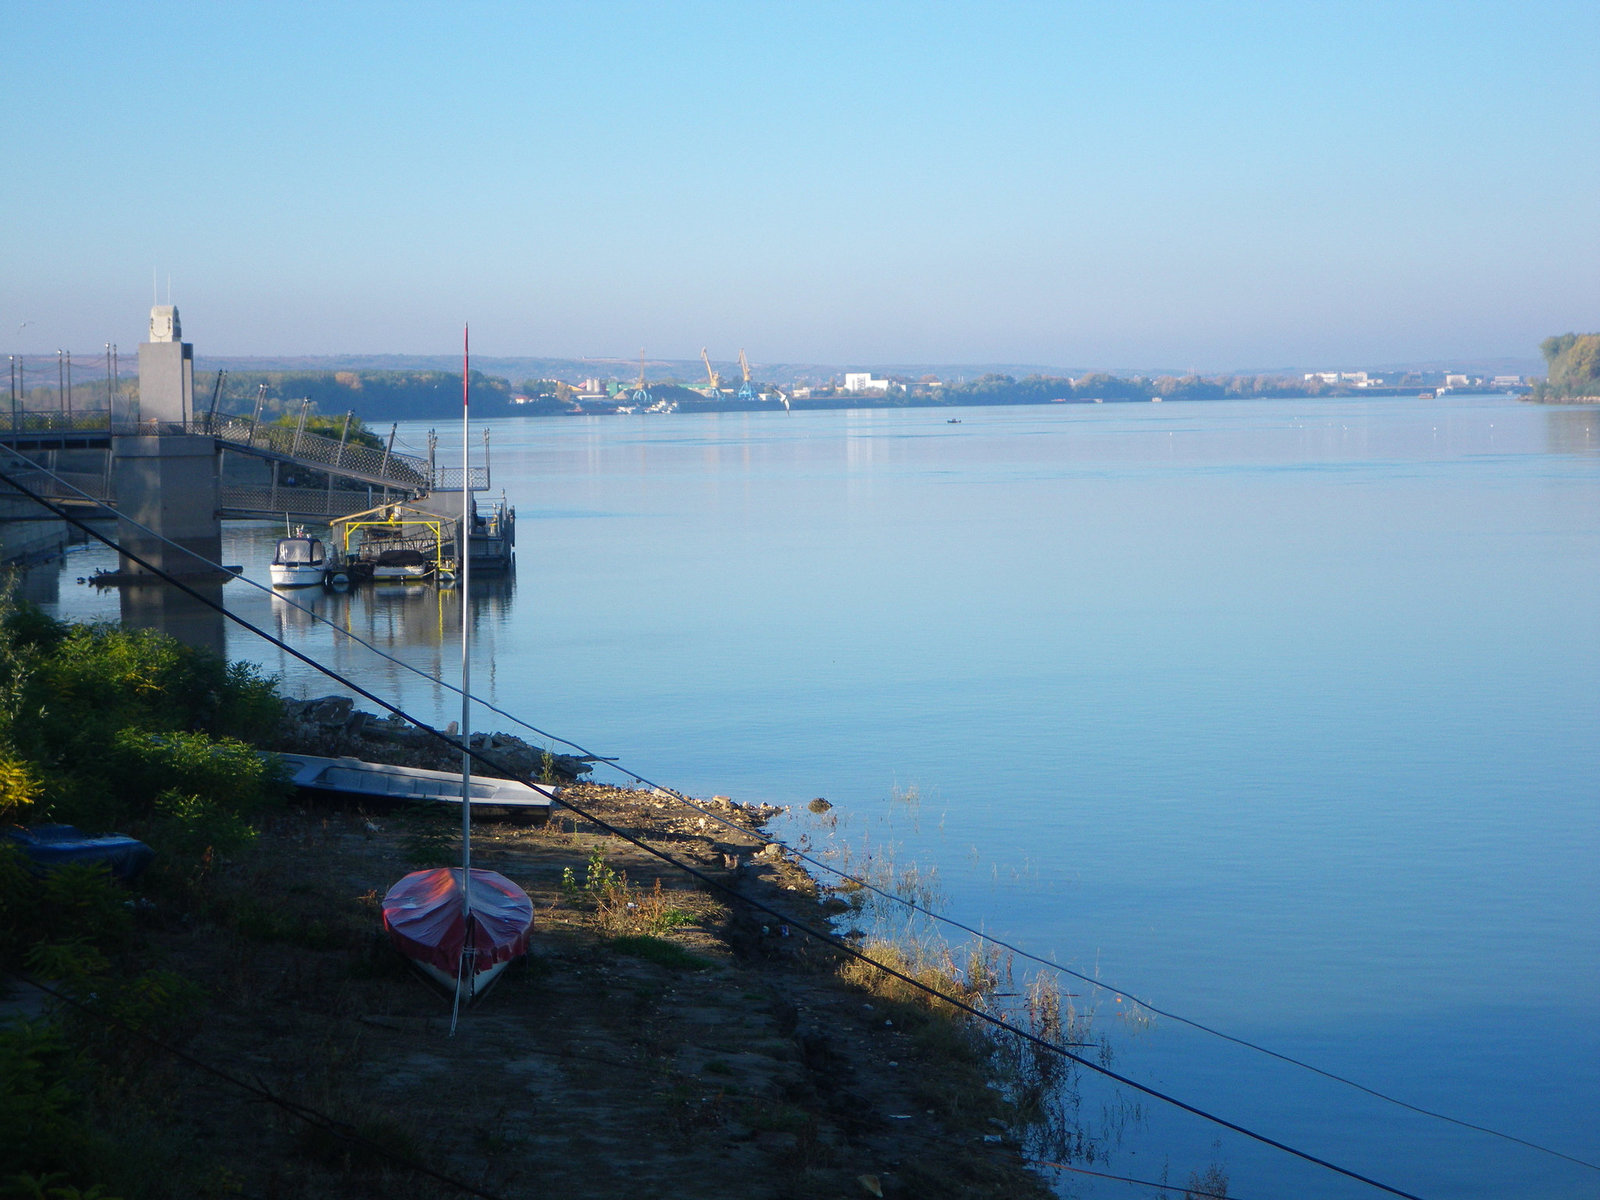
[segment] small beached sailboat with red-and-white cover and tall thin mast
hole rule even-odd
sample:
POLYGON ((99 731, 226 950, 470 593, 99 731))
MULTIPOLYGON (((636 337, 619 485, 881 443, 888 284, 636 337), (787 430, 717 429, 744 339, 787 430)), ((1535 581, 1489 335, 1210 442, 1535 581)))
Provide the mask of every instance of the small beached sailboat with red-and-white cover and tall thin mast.
MULTIPOLYGON (((467 480, 467 331, 461 333, 461 478, 467 480)), ((466 494, 466 493, 462 493, 466 494)), ((528 952, 533 901, 496 870, 472 866, 472 622, 470 557, 461 557, 461 867, 413 870, 384 896, 390 942, 430 981, 454 995, 459 1011, 528 952)), ((454 1021, 451 1021, 454 1032, 454 1021)))

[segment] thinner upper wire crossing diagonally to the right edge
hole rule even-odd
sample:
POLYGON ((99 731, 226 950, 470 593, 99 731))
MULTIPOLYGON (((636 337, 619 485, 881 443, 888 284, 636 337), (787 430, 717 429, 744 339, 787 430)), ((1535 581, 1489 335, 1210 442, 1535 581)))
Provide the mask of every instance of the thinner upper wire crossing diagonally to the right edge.
MULTIPOLYGON (((75 485, 67 483, 66 480, 61 480, 59 477, 56 477, 53 472, 50 472, 48 467, 43 467, 42 464, 32 462, 32 459, 26 458, 24 454, 21 454, 18 451, 13 451, 13 453, 22 462, 27 462, 27 464, 34 466, 35 469, 38 469, 38 470, 51 475, 51 478, 56 478, 62 486, 75 491, 77 494, 83 496, 85 499, 94 499, 90 493, 83 491, 82 488, 77 488, 75 485)), ((157 538, 157 539, 166 542, 168 546, 174 546, 176 549, 184 550, 186 554, 192 555, 194 558, 197 558, 200 563, 203 563, 206 566, 216 568, 219 571, 226 570, 219 563, 213 563, 210 558, 205 558, 203 555, 197 554, 195 550, 190 550, 187 547, 178 546, 171 539, 163 538, 155 530, 150 530, 149 526, 141 525, 139 522, 130 520, 126 517, 120 517, 120 520, 126 520, 130 525, 133 525, 134 528, 141 530, 142 533, 147 533, 152 538, 157 538)), ((358 634, 354 634, 354 632, 344 629, 342 626, 339 626, 338 622, 330 621, 328 618, 322 616, 315 610, 310 610, 310 608, 307 608, 307 606, 304 606, 301 603, 296 603, 294 600, 290 600, 288 597, 278 595, 270 587, 267 587, 266 584, 261 584, 261 582, 258 582, 254 579, 248 579, 245 576, 237 576, 237 578, 242 582, 248 584, 250 587, 254 587, 259 592, 266 592, 267 595, 272 595, 274 598, 277 598, 278 602, 282 602, 285 605, 291 605, 293 608, 298 608, 301 613, 304 613, 306 616, 309 616, 312 621, 318 621, 318 622, 328 626, 330 629, 336 630, 342 637, 355 642, 357 645, 360 645, 365 650, 371 651, 373 654, 378 654, 379 658, 382 658, 382 659, 395 664, 397 667, 403 667, 405 670, 410 670, 411 674, 414 674, 414 675, 418 675, 421 678, 426 678, 430 683, 443 686, 448 691, 454 691, 458 696, 461 694, 461 688, 458 688, 456 685, 450 683, 448 680, 434 677, 434 675, 427 674, 426 670, 422 670, 421 667, 416 667, 411 662, 406 662, 405 659, 397 658, 395 654, 387 653, 386 650, 373 645, 371 642, 368 642, 366 638, 360 637, 358 634)), ((550 733, 549 730, 542 730, 542 728, 539 728, 536 725, 531 725, 530 722, 523 720, 522 717, 518 717, 518 715, 515 715, 512 712, 507 712, 506 709, 501 709, 496 704, 493 704, 493 702, 490 702, 486 699, 482 699, 478 696, 474 696, 472 701, 475 704, 488 709, 490 712, 494 712, 496 715, 504 717, 509 722, 514 722, 515 725, 522 726, 523 730, 528 730, 530 733, 533 733, 533 734, 536 734, 539 738, 544 738, 549 742, 558 742, 562 746, 566 746, 566 747, 576 750, 578 757, 582 758, 582 760, 586 760, 586 762, 603 762, 603 763, 608 763, 619 774, 622 774, 622 776, 626 776, 626 778, 629 778, 629 779, 632 779, 632 781, 635 781, 638 784, 643 784, 645 787, 651 787, 656 792, 670 797, 672 800, 677 800, 678 803, 682 803, 682 805, 694 810, 701 816, 704 816, 704 818, 707 818, 710 821, 715 821, 715 822, 718 822, 722 826, 726 826, 728 829, 742 830, 742 826, 736 824, 734 821, 730 821, 722 813, 718 813, 718 811, 715 811, 712 808, 707 808, 706 805, 698 803, 693 797, 688 797, 683 792, 678 792, 677 789, 667 787, 664 784, 658 784, 653 779, 650 779, 648 776, 638 774, 637 771, 634 771, 634 770, 627 768, 626 765, 622 765, 618 758, 611 758, 611 757, 594 754, 592 750, 589 750, 587 747, 581 746, 579 742, 574 742, 574 741, 571 741, 568 738, 562 738, 562 736, 558 736, 555 733, 550 733)), ((1584 1168, 1587 1168, 1590 1171, 1600 1171, 1600 1163, 1594 1163, 1594 1162, 1589 1162, 1586 1158, 1578 1158, 1576 1155, 1565 1154, 1565 1152, 1557 1150, 1557 1149, 1549 1147, 1549 1146, 1541 1146, 1539 1142, 1530 1141, 1526 1138, 1518 1138, 1517 1134, 1506 1133, 1502 1130, 1494 1130, 1494 1128, 1491 1128, 1488 1125, 1478 1125, 1475 1122, 1469 1122, 1469 1120, 1464 1120, 1461 1117, 1451 1117, 1446 1112, 1438 1112, 1435 1109, 1426 1109, 1426 1107, 1422 1107, 1419 1104, 1411 1104, 1410 1101, 1400 1099, 1398 1096, 1392 1096, 1392 1094, 1384 1093, 1384 1091, 1378 1091, 1376 1088, 1371 1088, 1371 1086, 1368 1086, 1368 1085, 1365 1085, 1365 1083, 1362 1083, 1358 1080, 1349 1078, 1347 1075, 1339 1075, 1336 1072, 1331 1072, 1331 1070, 1326 1070, 1323 1067, 1318 1067, 1318 1066, 1315 1066, 1312 1062, 1306 1062, 1304 1059, 1293 1058, 1291 1054, 1285 1054, 1285 1053, 1272 1050, 1269 1046, 1262 1046, 1262 1045, 1259 1045, 1256 1042, 1250 1042, 1246 1038, 1235 1037, 1234 1034, 1227 1034, 1227 1032, 1224 1032, 1221 1029, 1216 1029, 1213 1026, 1206 1026, 1206 1024, 1203 1024, 1200 1021, 1195 1021, 1192 1018, 1182 1016, 1182 1014, 1174 1013, 1171 1010, 1160 1008, 1158 1005, 1154 1005, 1149 1000, 1144 1000, 1144 998, 1134 995, 1133 992, 1130 992, 1126 989, 1115 987, 1114 984, 1110 984, 1107 981, 1098 979, 1094 976, 1083 974, 1082 971, 1075 971, 1070 966, 1064 966, 1064 965, 1061 965, 1058 962, 1053 962, 1050 958, 1042 958, 1037 954, 1030 954, 1029 950, 1024 950, 1021 946, 1016 946, 1014 942, 1003 941, 1000 938, 995 938, 994 934, 984 933, 982 930, 973 928, 971 925, 966 925, 966 923, 957 920, 955 917, 949 917, 949 915, 936 912, 936 910, 933 910, 933 909, 930 909, 930 907, 926 907, 923 904, 918 904, 914 899, 909 899, 906 896, 886 891, 885 888, 878 886, 877 883, 872 883, 869 878, 864 878, 864 877, 859 877, 859 875, 851 875, 850 872, 842 870, 842 869, 835 867, 834 864, 826 862, 824 859, 819 859, 819 858, 816 858, 813 854, 808 854, 806 851, 798 850, 798 848, 795 848, 795 846, 792 846, 792 845, 789 845, 786 842, 781 842, 778 838, 768 838, 768 840, 770 842, 776 842, 782 850, 786 850, 787 853, 794 854, 797 859, 806 862, 808 866, 813 866, 813 867, 816 867, 819 870, 824 870, 824 872, 827 872, 827 874, 830 874, 830 875, 834 875, 834 877, 837 877, 840 880, 845 880, 848 883, 853 883, 858 888, 870 891, 872 894, 878 896, 880 899, 890 901, 893 904, 901 904, 901 906, 910 909, 912 912, 917 912, 917 914, 920 914, 923 917, 928 917, 930 920, 934 920, 934 922, 938 922, 938 923, 941 923, 941 925, 944 925, 947 928, 960 930, 962 933, 965 933, 968 936, 978 938, 979 941, 987 942, 989 946, 994 946, 997 949, 1006 950, 1008 954, 1013 954, 1013 955, 1016 955, 1016 957, 1019 957, 1019 958, 1022 958, 1026 962, 1035 963, 1035 965, 1043 966, 1043 968, 1051 970, 1051 971, 1058 971, 1058 973, 1066 974, 1066 976, 1069 976, 1072 979, 1078 979, 1082 982, 1086 982, 1086 984, 1090 984, 1093 987, 1102 987, 1106 990, 1115 992, 1117 995, 1125 995, 1125 997, 1128 997, 1128 1000, 1131 1000, 1133 1003, 1139 1005, 1141 1008, 1147 1008, 1149 1011, 1155 1013, 1157 1016, 1166 1018, 1168 1021, 1176 1021, 1179 1024, 1189 1026, 1190 1029, 1200 1030, 1202 1034, 1210 1034, 1211 1037, 1222 1038, 1224 1042, 1230 1042, 1230 1043, 1234 1043, 1237 1046, 1243 1046, 1245 1050, 1253 1050, 1253 1051, 1256 1051, 1259 1054, 1266 1054, 1267 1058, 1274 1058, 1274 1059, 1278 1059, 1280 1062, 1286 1062, 1290 1066, 1299 1067, 1301 1070, 1309 1070, 1314 1075, 1320 1075, 1322 1078, 1331 1080, 1334 1083, 1342 1083, 1344 1086, 1355 1088, 1357 1091, 1360 1091, 1360 1093, 1363 1093, 1366 1096, 1371 1096, 1374 1099, 1384 1101, 1386 1104, 1394 1104, 1395 1107, 1405 1109, 1408 1112, 1414 1112, 1414 1114, 1418 1114, 1421 1117, 1429 1117, 1432 1120, 1440 1120, 1440 1122, 1445 1122, 1448 1125, 1454 1125, 1454 1126, 1462 1128, 1462 1130, 1472 1130, 1475 1133, 1483 1133, 1483 1134, 1488 1134, 1491 1138, 1499 1138, 1499 1139, 1512 1142, 1515 1146, 1522 1146, 1522 1147, 1526 1147, 1530 1150, 1538 1150, 1538 1152, 1547 1154, 1547 1155, 1550 1155, 1554 1158, 1560 1158, 1563 1162, 1574 1163, 1576 1166, 1584 1166, 1584 1168)))

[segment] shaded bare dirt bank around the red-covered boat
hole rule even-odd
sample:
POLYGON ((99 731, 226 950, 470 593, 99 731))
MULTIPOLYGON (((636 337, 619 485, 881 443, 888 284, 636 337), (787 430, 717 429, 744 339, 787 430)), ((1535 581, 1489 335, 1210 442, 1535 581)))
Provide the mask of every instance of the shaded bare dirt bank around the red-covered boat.
MULTIPOLYGON (((568 795, 739 898, 811 923, 838 907, 758 854, 758 813, 715 802, 736 832, 650 792, 568 795)), ((1051 1194, 942 1018, 846 982, 834 952, 571 811, 475 826, 474 866, 534 901, 533 947, 451 1037, 448 998, 384 941, 379 899, 459 861, 454 819, 290 811, 248 867, 224 867, 219 925, 166 934, 211 998, 189 1053, 342 1123, 163 1066, 184 1136, 216 1162, 208 1194, 464 1194, 397 1157, 494 1197, 1051 1194)))

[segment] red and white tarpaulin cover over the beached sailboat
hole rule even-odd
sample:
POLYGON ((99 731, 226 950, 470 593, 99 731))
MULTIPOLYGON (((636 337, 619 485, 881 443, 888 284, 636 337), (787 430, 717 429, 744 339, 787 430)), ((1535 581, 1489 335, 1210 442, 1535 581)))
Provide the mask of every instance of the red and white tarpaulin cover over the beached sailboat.
MULTIPOLYGON (((475 973, 528 950, 533 901, 498 870, 472 869, 475 973)), ((461 867, 413 870, 384 896, 384 928, 400 952, 456 974, 469 930, 461 902, 461 867)))

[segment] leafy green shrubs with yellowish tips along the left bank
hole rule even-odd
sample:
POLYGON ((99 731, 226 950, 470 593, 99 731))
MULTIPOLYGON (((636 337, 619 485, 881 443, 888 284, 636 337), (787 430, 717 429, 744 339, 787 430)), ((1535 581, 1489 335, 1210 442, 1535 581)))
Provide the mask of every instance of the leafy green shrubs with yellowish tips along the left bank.
POLYGON ((152 1162, 139 1077, 150 1037, 203 1005, 154 960, 149 922, 208 902, 286 787, 251 742, 277 725, 274 680, 168 637, 72 626, 0 594, 0 824, 123 832, 155 850, 125 886, 101 869, 35 874, 0 842, 0 970, 66 997, 0 1022, 0 1198, 162 1197, 182 1163, 152 1162))

